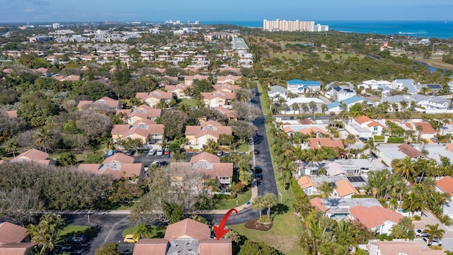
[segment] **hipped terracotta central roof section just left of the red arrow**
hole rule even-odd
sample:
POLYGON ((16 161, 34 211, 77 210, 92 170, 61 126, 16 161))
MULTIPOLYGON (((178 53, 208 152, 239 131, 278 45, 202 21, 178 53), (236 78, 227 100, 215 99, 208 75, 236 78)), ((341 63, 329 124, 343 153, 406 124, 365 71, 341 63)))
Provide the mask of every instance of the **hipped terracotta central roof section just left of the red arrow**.
POLYGON ((164 239, 173 241, 177 238, 193 238, 200 241, 202 239, 209 239, 210 237, 211 229, 208 225, 195 220, 185 219, 168 225, 164 239))

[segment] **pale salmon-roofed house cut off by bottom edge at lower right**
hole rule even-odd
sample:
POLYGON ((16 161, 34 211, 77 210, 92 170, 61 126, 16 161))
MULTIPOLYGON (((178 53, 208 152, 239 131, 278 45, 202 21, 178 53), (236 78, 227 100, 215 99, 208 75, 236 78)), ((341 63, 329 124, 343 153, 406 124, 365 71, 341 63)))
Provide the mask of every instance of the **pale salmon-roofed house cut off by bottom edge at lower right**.
POLYGON ((369 255, 442 255, 442 250, 430 249, 419 242, 369 242, 369 255))

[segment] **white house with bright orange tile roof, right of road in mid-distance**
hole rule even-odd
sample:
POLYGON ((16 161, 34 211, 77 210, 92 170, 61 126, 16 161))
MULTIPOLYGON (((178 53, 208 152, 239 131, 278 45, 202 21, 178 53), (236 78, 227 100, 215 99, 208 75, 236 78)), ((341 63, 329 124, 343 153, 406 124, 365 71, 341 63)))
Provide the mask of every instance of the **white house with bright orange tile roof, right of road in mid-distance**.
POLYGON ((345 125, 345 130, 348 130, 352 135, 359 137, 372 138, 375 135, 382 135, 382 130, 387 129, 384 125, 362 115, 358 118, 351 118, 345 125))

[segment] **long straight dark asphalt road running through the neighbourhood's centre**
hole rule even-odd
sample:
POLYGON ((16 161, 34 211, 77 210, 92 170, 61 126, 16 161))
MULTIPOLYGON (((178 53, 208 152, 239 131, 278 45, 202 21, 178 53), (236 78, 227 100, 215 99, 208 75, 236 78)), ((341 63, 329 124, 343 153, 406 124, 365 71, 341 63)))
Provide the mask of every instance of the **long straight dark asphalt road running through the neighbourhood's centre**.
MULTIPOLYGON (((252 98, 251 103, 261 109, 258 89, 253 89, 252 92, 256 96, 252 98)), ((255 149, 260 151, 260 154, 255 155, 255 162, 256 166, 260 166, 263 169, 263 180, 258 183, 258 196, 263 196, 265 193, 274 193, 278 198, 277 183, 275 183, 274 169, 270 160, 268 136, 266 135, 264 119, 264 115, 261 114, 253 121, 253 124, 258 128, 255 149)))

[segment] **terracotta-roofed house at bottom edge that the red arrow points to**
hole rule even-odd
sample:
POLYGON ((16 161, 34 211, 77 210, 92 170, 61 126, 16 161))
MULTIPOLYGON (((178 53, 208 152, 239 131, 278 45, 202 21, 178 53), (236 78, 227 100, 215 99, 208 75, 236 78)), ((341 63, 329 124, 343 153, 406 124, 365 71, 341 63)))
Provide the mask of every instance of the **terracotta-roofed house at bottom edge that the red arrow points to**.
POLYGON ((163 239, 141 239, 132 255, 231 255, 231 239, 211 238, 209 226, 191 219, 168 225, 163 239))

